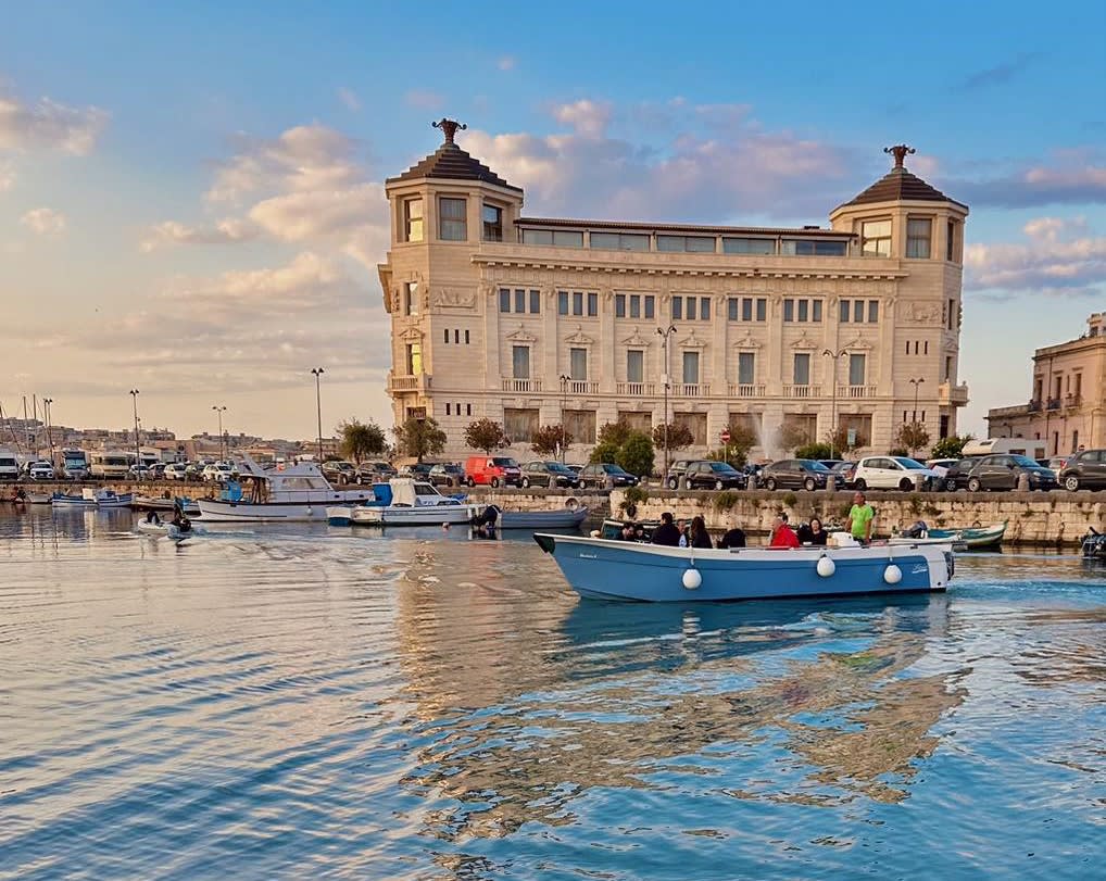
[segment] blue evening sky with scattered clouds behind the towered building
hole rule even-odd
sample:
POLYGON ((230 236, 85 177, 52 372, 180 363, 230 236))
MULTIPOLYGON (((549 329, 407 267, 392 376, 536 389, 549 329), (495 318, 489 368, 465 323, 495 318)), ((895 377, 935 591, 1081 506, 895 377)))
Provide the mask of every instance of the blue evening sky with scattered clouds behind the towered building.
POLYGON ((961 378, 1029 395, 1104 307, 1106 4, 13 7, 0 403, 67 424, 387 423, 380 181, 444 114, 526 211, 825 223, 887 168, 971 207, 961 378))

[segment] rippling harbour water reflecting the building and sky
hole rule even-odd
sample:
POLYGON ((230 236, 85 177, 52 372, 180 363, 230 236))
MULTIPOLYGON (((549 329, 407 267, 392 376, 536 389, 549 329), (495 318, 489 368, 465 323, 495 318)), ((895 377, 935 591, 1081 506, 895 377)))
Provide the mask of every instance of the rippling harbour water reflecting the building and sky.
POLYGON ((530 541, 0 513, 0 878, 1100 878, 1106 570, 580 601, 530 541))

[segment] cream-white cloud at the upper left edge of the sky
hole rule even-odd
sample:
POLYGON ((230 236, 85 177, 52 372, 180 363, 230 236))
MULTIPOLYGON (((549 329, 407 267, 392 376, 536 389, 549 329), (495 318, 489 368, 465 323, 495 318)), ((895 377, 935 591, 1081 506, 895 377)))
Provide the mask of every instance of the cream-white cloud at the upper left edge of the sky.
POLYGON ((75 156, 92 151, 107 125, 98 107, 69 107, 50 98, 25 104, 0 94, 0 149, 56 149, 75 156))

